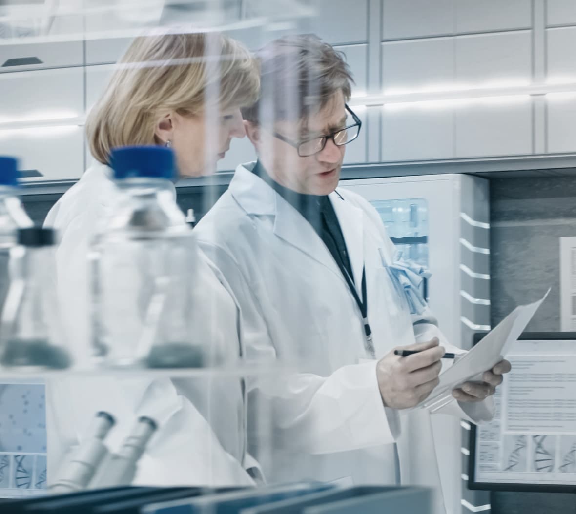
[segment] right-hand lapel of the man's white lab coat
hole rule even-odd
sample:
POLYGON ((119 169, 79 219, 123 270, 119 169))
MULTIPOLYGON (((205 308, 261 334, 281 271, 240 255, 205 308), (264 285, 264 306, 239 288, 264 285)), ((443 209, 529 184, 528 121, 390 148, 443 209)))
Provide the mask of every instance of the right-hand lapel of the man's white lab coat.
POLYGON ((360 295, 364 268, 364 214, 361 209, 344 200, 337 192, 332 193, 329 198, 344 235, 348 258, 354 273, 354 282, 360 295))

